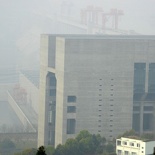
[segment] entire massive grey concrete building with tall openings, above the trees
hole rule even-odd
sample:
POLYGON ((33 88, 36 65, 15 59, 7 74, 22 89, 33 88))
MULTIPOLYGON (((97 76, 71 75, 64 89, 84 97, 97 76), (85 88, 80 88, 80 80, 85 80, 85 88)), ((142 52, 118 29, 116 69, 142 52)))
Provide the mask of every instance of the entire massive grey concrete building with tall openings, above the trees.
POLYGON ((155 130, 155 36, 42 35, 38 145, 81 130, 155 130))

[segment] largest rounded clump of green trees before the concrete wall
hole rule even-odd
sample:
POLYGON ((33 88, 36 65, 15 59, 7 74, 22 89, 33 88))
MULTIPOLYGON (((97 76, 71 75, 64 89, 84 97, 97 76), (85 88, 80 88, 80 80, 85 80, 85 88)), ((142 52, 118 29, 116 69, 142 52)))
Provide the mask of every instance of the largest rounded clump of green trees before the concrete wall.
POLYGON ((90 134, 87 130, 81 131, 75 139, 68 139, 64 145, 58 145, 53 155, 94 155, 101 154, 106 139, 99 134, 90 134))

